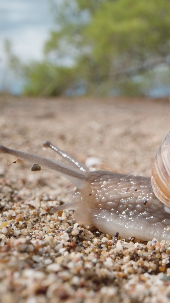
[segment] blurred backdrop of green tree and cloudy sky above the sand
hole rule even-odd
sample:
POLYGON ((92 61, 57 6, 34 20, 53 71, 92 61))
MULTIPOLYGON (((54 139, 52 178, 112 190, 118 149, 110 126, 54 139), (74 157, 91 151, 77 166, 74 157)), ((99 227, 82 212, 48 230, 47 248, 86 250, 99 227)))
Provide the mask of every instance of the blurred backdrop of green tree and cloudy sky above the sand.
POLYGON ((1 0, 0 92, 170 95, 168 0, 1 0))

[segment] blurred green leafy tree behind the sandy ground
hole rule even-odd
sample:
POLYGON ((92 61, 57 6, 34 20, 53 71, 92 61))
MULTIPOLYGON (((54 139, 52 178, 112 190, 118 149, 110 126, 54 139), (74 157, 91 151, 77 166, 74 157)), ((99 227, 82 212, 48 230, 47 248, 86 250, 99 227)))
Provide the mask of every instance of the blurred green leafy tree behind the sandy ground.
POLYGON ((153 68, 169 55, 169 0, 63 0, 59 8, 51 3, 59 27, 44 46, 46 61, 29 67, 27 93, 59 95, 80 79, 88 93, 148 93, 153 68), (74 67, 53 66, 51 56, 71 56, 74 67), (147 81, 137 83, 135 75, 147 81))

